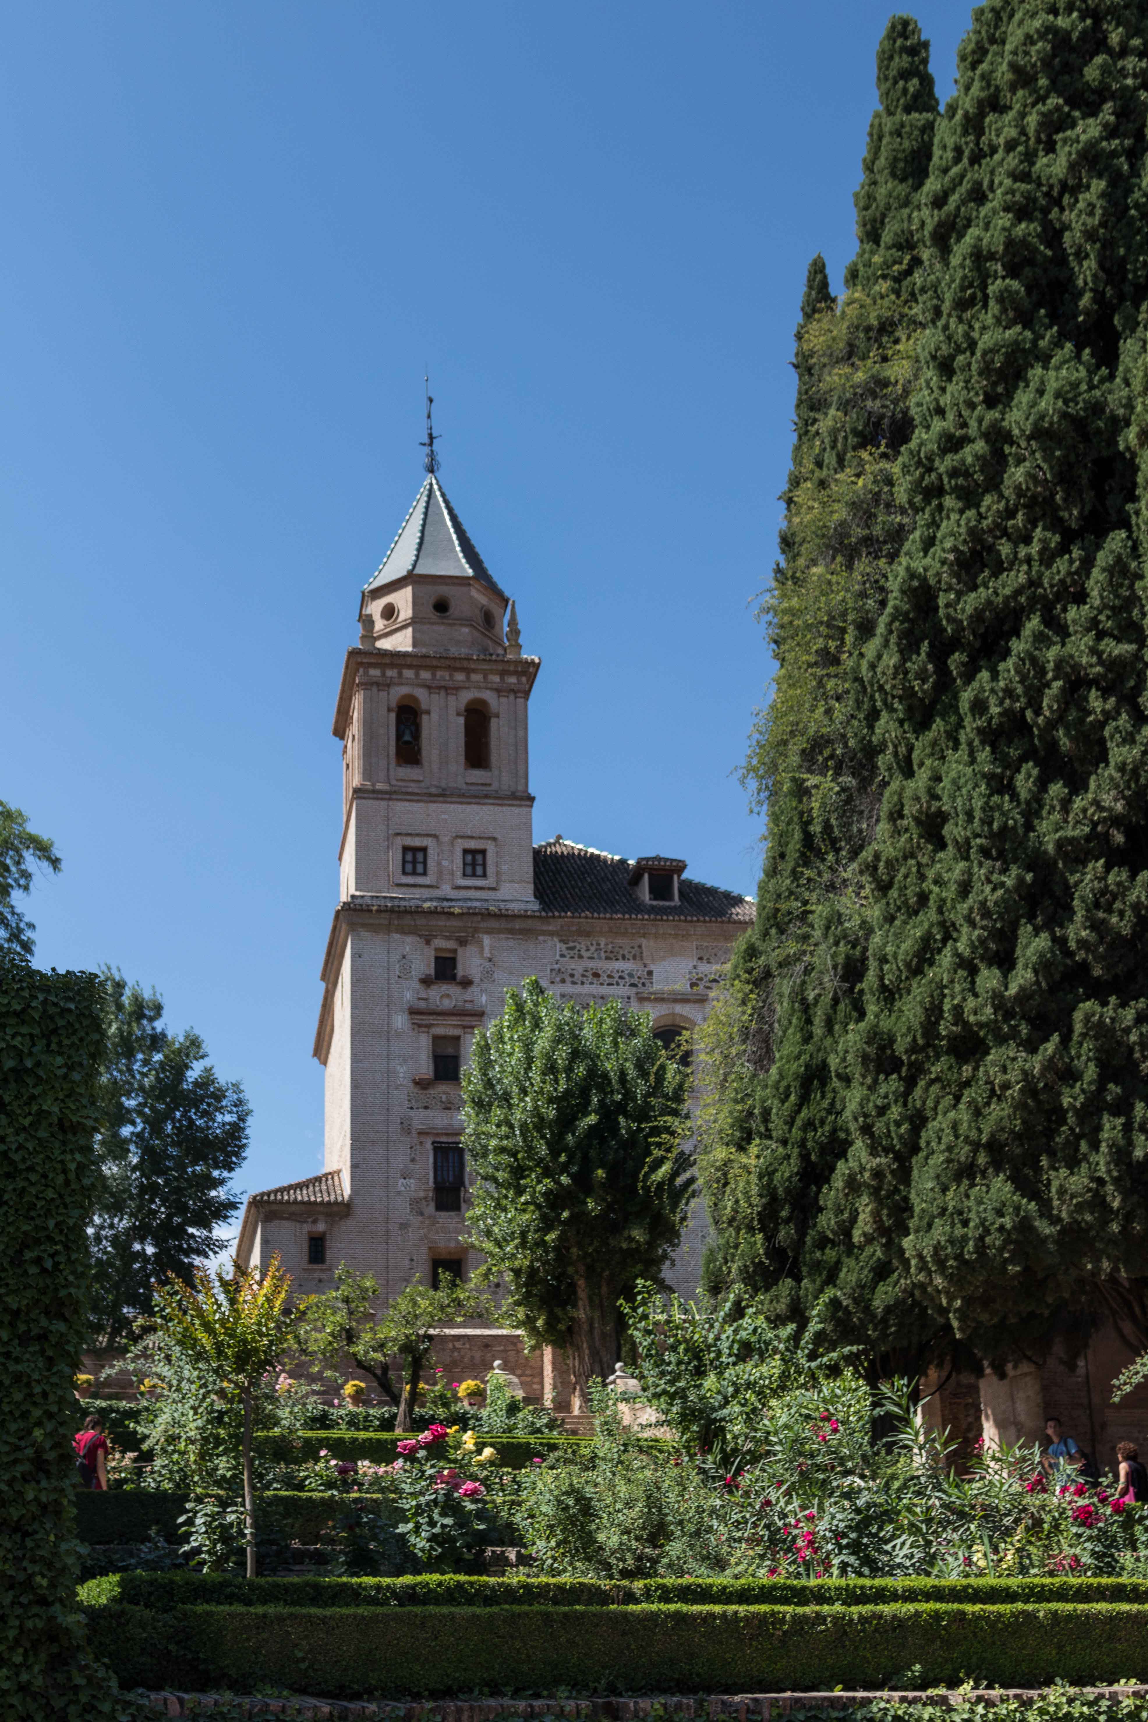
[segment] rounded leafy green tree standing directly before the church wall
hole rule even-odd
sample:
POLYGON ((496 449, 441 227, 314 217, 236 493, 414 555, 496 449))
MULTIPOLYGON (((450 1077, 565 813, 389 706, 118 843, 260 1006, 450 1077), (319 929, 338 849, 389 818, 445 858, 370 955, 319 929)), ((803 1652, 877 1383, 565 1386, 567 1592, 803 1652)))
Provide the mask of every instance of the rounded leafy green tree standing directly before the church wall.
POLYGON ((570 1353, 575 1409, 618 1360, 618 1300, 657 1279, 694 1192, 688 1075, 644 1013, 559 1006, 532 976, 463 1073, 470 1240, 528 1340, 570 1353))

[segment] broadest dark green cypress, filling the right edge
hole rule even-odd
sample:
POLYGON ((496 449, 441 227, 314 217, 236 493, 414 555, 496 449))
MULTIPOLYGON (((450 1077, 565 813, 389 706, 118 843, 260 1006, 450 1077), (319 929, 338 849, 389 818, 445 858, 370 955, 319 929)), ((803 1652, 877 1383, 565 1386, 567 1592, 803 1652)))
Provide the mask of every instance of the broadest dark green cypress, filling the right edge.
POLYGON ((923 198, 843 1190, 995 1359, 1148 1273, 1146 117, 1143 0, 986 0, 923 198))

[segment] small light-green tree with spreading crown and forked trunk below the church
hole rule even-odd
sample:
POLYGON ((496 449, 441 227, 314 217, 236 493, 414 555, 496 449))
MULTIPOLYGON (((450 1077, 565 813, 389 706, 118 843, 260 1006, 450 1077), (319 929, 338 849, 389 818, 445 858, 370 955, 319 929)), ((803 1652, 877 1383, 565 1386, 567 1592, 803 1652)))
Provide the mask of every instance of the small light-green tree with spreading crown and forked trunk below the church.
POLYGON ((303 1310, 299 1348, 330 1367, 339 1367, 349 1357, 356 1369, 372 1376, 392 1405, 398 1403, 394 1428, 406 1431, 411 1428, 423 1367, 434 1352, 435 1329, 465 1316, 492 1316, 494 1305, 489 1293, 473 1285, 447 1281, 432 1288, 418 1278, 380 1316, 372 1307, 375 1298, 375 1276, 356 1274, 346 1262, 339 1262, 334 1290, 310 1298, 303 1310), (392 1357, 403 1359, 401 1395, 391 1378, 392 1357))

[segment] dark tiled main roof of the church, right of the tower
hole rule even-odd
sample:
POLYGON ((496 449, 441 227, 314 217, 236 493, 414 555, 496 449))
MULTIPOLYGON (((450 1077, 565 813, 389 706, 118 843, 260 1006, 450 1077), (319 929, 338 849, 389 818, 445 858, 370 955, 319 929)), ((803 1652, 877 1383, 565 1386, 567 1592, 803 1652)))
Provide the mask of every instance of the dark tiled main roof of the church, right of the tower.
POLYGON ((651 921, 752 921, 750 897, 735 890, 678 880, 678 902, 642 902, 630 890, 633 863, 602 849, 585 849, 554 837, 534 847, 534 894, 544 914, 596 914, 651 921))

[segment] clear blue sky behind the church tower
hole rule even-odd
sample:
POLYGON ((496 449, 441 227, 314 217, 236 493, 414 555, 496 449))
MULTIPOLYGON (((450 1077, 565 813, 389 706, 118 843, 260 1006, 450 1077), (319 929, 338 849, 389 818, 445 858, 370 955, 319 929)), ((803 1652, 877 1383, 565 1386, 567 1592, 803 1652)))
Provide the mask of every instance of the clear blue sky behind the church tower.
MULTIPOLYGON (((952 90, 964 7, 916 15, 952 90)), ((418 482, 499 584, 535 840, 752 892, 735 771, 805 265, 835 284, 869 0, 12 9, 0 69, 0 797, 43 966, 114 963, 322 1162, 330 735, 418 482)))

